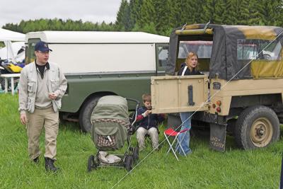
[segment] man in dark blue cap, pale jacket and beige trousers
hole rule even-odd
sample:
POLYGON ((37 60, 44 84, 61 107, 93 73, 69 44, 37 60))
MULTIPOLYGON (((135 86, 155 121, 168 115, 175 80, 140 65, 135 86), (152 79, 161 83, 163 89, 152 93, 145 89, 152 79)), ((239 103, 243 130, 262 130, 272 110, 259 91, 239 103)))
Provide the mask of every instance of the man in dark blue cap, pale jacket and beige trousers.
POLYGON ((19 82, 19 110, 21 123, 28 133, 28 155, 39 163, 39 138, 45 127, 45 169, 57 171, 54 166, 59 129, 61 98, 67 89, 67 80, 57 64, 48 62, 50 48, 46 42, 35 44, 35 62, 21 71, 19 82))

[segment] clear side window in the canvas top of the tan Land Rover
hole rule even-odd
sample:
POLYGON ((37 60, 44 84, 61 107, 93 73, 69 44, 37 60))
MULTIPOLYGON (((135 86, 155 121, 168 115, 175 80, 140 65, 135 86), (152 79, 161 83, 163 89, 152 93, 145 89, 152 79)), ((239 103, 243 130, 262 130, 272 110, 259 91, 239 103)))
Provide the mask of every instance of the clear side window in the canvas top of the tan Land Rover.
POLYGON ((237 58, 279 60, 281 48, 279 41, 241 39, 237 40, 237 58))

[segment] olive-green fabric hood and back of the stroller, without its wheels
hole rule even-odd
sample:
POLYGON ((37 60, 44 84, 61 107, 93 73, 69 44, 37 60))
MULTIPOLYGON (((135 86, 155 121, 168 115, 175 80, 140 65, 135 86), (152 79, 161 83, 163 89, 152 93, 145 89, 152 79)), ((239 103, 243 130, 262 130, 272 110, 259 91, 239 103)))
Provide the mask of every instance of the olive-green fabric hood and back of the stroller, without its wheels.
POLYGON ((93 110, 91 122, 91 137, 98 149, 112 150, 123 147, 130 125, 126 98, 101 97, 93 110))

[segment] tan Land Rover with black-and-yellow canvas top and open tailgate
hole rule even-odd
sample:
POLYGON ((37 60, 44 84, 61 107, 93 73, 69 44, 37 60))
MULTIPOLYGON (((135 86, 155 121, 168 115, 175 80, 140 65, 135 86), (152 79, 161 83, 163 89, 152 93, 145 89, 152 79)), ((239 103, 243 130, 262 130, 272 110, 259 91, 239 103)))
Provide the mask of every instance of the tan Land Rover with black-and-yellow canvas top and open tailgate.
MULTIPOLYGON (((210 127, 212 149, 225 150, 226 132, 243 149, 279 139, 283 122, 283 28, 195 24, 171 33, 166 76, 151 78, 153 113, 194 111, 210 127), (203 75, 175 76, 187 52, 203 75)), ((168 117, 174 118, 174 115, 168 117)))

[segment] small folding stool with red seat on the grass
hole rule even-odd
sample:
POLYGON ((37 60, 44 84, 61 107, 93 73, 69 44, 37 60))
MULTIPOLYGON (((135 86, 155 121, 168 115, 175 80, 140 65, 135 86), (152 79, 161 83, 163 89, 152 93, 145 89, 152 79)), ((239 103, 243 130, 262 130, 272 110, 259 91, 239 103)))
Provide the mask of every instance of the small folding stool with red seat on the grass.
MULTIPOLYGON (((180 147, 180 149, 181 149, 181 150, 183 151, 183 153, 185 154, 184 149, 183 149, 182 146, 180 145, 181 142, 183 141, 185 135, 184 135, 184 137, 183 137, 182 139, 180 139, 180 140, 178 139, 178 136, 179 136, 179 134, 181 134, 181 133, 183 133, 183 132, 187 132, 187 130, 189 130, 189 129, 180 130, 179 132, 177 132, 177 131, 173 130, 172 128, 169 128, 169 129, 167 129, 167 130, 164 131, 164 136, 165 136, 165 138, 166 138, 166 140, 167 140, 167 142, 168 142, 168 144, 169 144, 169 149, 168 149, 168 151, 167 151, 167 154, 169 153, 170 150, 172 150, 174 156, 176 157, 176 159, 177 159, 178 161, 179 161, 179 159, 178 159, 178 156, 176 155, 176 151, 175 151, 175 149, 173 148, 173 145, 176 143, 176 145, 177 145, 177 146, 176 146, 176 149, 177 149, 177 147, 180 147), (173 138, 174 138, 174 139, 173 139, 173 142, 170 142, 169 137, 173 137, 173 138)), ((185 156, 186 156, 186 155, 185 155, 185 156)))

